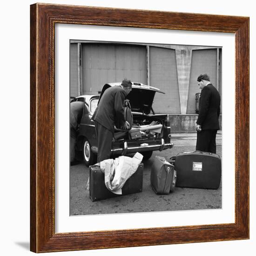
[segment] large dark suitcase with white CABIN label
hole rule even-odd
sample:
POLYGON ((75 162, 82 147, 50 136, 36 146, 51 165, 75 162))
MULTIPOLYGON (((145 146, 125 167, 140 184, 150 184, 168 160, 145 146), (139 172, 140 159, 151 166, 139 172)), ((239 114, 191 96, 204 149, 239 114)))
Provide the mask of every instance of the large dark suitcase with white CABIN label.
POLYGON ((179 153, 175 159, 176 187, 218 189, 221 182, 219 155, 194 151, 179 153))

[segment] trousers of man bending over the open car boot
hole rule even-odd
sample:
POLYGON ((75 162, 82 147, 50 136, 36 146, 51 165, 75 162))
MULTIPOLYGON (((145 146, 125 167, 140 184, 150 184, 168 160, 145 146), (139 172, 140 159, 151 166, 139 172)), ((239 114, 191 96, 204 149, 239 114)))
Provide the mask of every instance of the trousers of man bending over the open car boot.
POLYGON ((94 121, 94 123, 98 143, 97 162, 101 162, 110 158, 113 133, 97 121, 94 121))

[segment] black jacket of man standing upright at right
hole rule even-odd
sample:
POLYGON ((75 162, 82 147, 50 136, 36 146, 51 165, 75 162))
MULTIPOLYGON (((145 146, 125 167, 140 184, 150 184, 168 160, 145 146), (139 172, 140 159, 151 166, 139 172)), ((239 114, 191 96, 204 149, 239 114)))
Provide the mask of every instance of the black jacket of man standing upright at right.
POLYGON ((202 130, 220 129, 221 96, 217 89, 208 84, 202 88, 199 99, 199 114, 196 123, 201 125, 202 130))

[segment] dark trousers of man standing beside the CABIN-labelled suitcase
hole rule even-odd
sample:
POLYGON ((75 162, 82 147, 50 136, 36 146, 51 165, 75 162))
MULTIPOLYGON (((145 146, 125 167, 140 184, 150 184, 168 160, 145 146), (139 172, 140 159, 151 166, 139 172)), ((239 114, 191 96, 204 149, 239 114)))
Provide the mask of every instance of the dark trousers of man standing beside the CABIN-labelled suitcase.
POLYGON ((197 131, 195 150, 216 154, 216 129, 197 131))

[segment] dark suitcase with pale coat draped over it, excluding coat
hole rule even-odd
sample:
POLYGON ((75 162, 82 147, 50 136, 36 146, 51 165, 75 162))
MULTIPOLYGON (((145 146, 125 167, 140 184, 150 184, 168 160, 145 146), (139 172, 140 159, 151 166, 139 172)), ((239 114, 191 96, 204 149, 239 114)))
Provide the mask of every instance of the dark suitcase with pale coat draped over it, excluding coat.
MULTIPOLYGON (((100 166, 90 166, 90 199, 94 202, 97 200, 107 199, 115 196, 107 189, 105 185, 105 175, 101 172, 100 166)), ((122 187, 122 195, 138 193, 142 191, 143 181, 143 163, 141 163, 136 172, 125 182, 122 187)))

